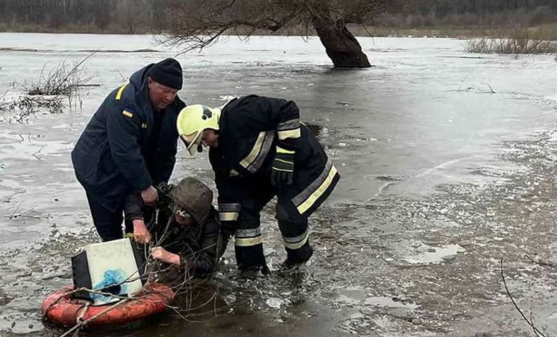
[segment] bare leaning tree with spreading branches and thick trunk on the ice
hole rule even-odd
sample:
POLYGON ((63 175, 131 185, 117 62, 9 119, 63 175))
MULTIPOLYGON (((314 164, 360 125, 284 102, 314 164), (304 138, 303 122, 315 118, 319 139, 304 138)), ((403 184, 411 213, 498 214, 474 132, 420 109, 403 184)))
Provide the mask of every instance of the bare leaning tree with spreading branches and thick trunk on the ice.
POLYGON ((173 0, 166 42, 204 48, 224 33, 260 31, 319 36, 335 67, 369 67, 347 23, 364 23, 402 6, 399 0, 173 0))

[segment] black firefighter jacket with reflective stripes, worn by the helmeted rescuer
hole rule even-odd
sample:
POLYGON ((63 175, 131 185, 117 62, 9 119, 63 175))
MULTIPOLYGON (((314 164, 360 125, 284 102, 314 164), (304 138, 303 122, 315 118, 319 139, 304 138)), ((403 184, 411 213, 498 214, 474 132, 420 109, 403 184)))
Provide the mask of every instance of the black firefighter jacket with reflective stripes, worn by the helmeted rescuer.
POLYGON ((273 189, 270 173, 277 147, 295 152, 294 183, 276 189, 278 202, 292 217, 307 217, 319 206, 319 201, 304 202, 307 198, 302 194, 320 183, 324 173, 334 177, 329 189, 334 187, 338 173, 311 130, 300 123, 295 102, 256 95, 240 97, 222 109, 219 145, 209 150, 219 218, 226 222, 223 226, 234 226, 246 200, 275 193, 261 189, 273 189))

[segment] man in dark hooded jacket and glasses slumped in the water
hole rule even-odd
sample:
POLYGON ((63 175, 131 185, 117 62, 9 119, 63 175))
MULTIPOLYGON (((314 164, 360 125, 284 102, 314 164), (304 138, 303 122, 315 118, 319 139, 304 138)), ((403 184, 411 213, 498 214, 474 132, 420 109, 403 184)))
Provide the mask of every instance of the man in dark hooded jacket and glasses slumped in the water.
POLYGON ((165 281, 211 275, 230 237, 221 230, 212 205, 213 192, 191 177, 175 186, 163 183, 157 188, 158 213, 145 206, 139 193, 132 193, 126 199, 126 221, 133 222, 134 227, 138 222, 141 226, 152 223, 148 226, 155 245, 151 255, 165 264, 160 272, 165 281))

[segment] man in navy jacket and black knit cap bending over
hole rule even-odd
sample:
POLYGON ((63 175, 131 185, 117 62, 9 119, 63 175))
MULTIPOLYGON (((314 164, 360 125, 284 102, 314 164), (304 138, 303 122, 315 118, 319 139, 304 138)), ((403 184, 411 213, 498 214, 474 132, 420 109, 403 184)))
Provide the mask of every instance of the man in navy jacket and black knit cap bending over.
MULTIPOLYGON (((110 92, 72 151, 76 177, 102 241, 122 237, 128 194, 138 191, 146 204, 154 205, 153 186, 170 178, 176 119, 185 106, 177 96, 182 78, 182 67, 173 58, 136 71, 127 84, 110 92)), ((126 228, 132 230, 136 241, 148 241, 145 227, 126 228)))

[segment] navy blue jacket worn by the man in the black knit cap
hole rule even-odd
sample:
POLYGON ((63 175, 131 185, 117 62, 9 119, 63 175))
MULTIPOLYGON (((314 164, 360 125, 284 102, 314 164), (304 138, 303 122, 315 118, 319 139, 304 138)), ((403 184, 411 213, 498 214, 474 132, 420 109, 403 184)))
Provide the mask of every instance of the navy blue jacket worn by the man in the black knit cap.
POLYGON ((109 209, 131 192, 168 182, 174 168, 176 119, 185 103, 177 96, 164 112, 153 111, 146 83, 152 66, 136 71, 128 84, 110 92, 71 153, 77 180, 109 209), (154 113, 164 115, 157 145, 150 146, 154 113), (150 148, 156 153, 149 153, 150 148))

